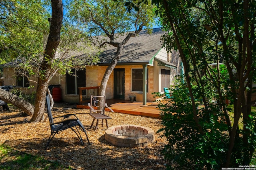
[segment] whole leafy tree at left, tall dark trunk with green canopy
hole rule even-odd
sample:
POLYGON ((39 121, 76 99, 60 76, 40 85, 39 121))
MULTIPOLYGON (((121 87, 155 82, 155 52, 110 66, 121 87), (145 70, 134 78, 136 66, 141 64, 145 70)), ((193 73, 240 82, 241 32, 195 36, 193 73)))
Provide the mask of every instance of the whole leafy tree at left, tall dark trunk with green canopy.
MULTIPOLYGON (((29 80, 31 76, 37 78, 35 109, 23 107, 26 113, 34 112, 30 121, 42 120, 48 82, 56 73, 65 74, 70 68, 93 64, 98 55, 98 49, 87 40, 86 33, 68 21, 62 22, 62 0, 52 1, 52 6, 49 5, 46 0, 0 2, 0 63, 17 61, 11 66, 17 66, 16 72, 29 80)), ((4 97, 6 93, 1 91, 0 98, 8 103, 14 102, 4 97)), ((16 100, 19 100, 17 96, 16 100)), ((19 101, 19 106, 22 106, 24 101, 19 101)))

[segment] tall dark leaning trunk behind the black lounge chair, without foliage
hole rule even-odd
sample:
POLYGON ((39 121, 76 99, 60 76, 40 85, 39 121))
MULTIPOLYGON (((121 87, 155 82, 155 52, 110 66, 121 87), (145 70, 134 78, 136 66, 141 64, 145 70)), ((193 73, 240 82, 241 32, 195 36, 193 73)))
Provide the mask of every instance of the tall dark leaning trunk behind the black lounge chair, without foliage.
POLYGON ((62 0, 52 0, 52 21, 50 33, 44 51, 44 59, 38 71, 38 85, 36 89, 35 111, 30 122, 39 122, 44 115, 46 91, 52 70, 50 61, 54 59, 56 49, 60 43, 60 29, 63 20, 62 0))

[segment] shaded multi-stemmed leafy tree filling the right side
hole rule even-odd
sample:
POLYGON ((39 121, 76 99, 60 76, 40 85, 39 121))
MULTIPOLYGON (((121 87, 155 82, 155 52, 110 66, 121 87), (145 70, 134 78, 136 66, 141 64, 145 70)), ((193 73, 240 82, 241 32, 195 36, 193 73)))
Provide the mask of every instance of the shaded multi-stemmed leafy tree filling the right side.
MULTIPOLYGON (((255 2, 164 0, 158 3, 158 7, 168 31, 163 37, 164 45, 169 50, 180 51, 186 78, 183 88, 190 94, 190 106, 179 107, 181 110, 177 116, 182 115, 185 122, 193 117, 194 121, 187 126, 198 132, 194 138, 184 129, 182 133, 189 137, 184 135, 181 139, 178 137, 180 132, 168 134, 168 128, 165 129, 167 136, 177 137, 170 140, 171 144, 177 139, 176 144, 182 143, 181 150, 167 153, 168 156, 178 158, 178 162, 190 160, 195 168, 208 166, 218 169, 249 164, 256 142, 255 129, 252 128, 255 115, 251 113, 255 102, 252 101, 252 84, 256 78, 255 2), (221 67, 220 62, 226 67, 221 67), (211 63, 216 64, 212 66, 211 63), (231 110, 226 99, 233 104, 234 119, 229 114, 231 110), (238 126, 241 117, 243 127, 238 126), (218 141, 215 142, 216 139, 218 141), (179 154, 190 152, 191 143, 194 143, 194 153, 197 156, 201 154, 200 158, 193 157, 193 154, 187 154, 188 157, 179 154)), ((185 99, 188 100, 174 100, 174 103, 180 106, 185 99)), ((169 117, 168 113, 166 116, 169 117)), ((164 123, 168 125, 167 121, 164 123)), ((175 125, 184 127, 183 123, 175 125)), ((184 161, 183 165, 187 163, 184 161)))

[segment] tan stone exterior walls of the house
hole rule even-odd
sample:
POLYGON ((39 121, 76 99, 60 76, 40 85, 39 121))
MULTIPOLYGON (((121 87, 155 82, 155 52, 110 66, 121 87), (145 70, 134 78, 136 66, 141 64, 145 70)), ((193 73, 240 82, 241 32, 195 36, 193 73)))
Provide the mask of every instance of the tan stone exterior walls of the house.
MULTIPOLYGON (((157 66, 156 66, 157 67, 157 66)), ((86 67, 86 87, 90 86, 100 86, 102 77, 106 71, 107 66, 88 66, 86 67)), ((133 92, 132 88, 132 69, 133 68, 143 68, 142 65, 119 65, 115 68, 124 68, 125 75, 125 100, 129 100, 128 94, 141 95, 142 92, 133 92)), ((153 98, 152 92, 159 91, 159 72, 154 73, 153 66, 147 66, 148 69, 148 92, 147 92, 147 102, 153 102, 155 98, 153 98), (156 76, 158 75, 158 76, 156 76)), ((20 88, 23 92, 30 94, 33 91, 36 91, 36 78, 31 78, 34 82, 30 82, 30 85, 34 86, 34 88, 20 88)), ((62 90, 62 101, 69 103, 79 103, 79 96, 73 94, 66 94, 66 76, 55 76, 50 81, 51 84, 60 84, 60 88, 62 90)), ((12 68, 4 68, 4 85, 16 85, 15 71, 12 68)), ((106 87, 106 99, 114 98, 114 73, 110 75, 108 80, 108 84, 106 87)), ((141 102, 141 101, 139 101, 141 102)))

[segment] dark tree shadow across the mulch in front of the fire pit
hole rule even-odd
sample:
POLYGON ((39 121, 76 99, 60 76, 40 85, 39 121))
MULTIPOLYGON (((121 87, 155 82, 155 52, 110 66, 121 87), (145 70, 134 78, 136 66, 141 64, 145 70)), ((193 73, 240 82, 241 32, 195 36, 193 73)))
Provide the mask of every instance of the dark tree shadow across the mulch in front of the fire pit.
POLYGON ((149 147, 114 147, 106 143, 104 135, 99 138, 101 145, 88 145, 84 139, 84 147, 77 137, 60 137, 52 139, 48 149, 45 150, 47 140, 48 138, 10 139, 5 141, 4 145, 81 170, 166 169, 163 158, 155 155, 156 150, 149 147))

